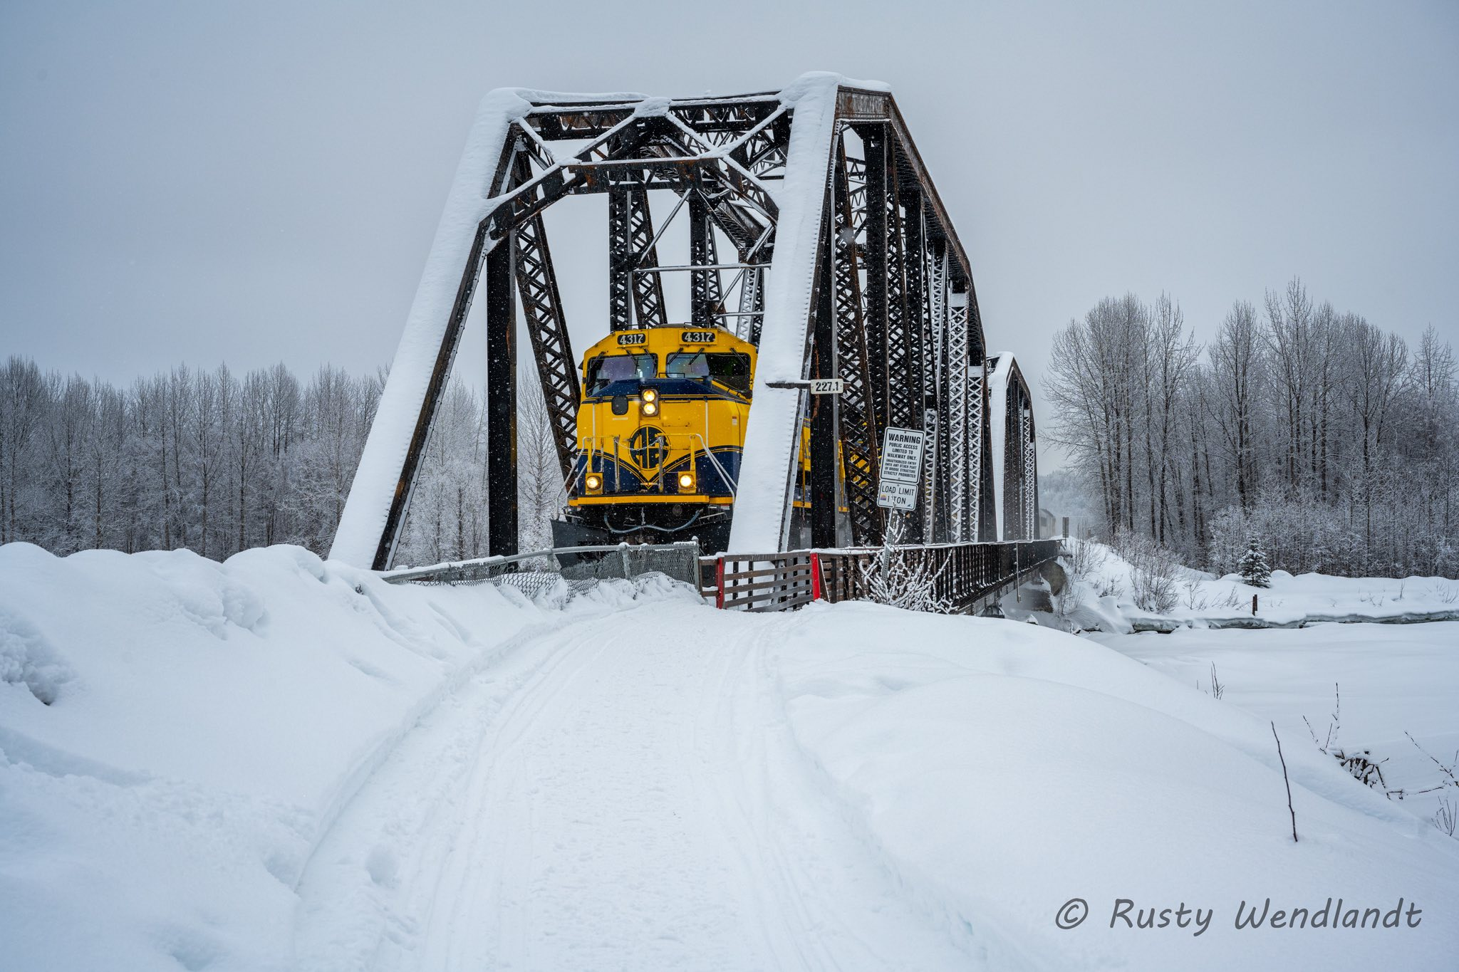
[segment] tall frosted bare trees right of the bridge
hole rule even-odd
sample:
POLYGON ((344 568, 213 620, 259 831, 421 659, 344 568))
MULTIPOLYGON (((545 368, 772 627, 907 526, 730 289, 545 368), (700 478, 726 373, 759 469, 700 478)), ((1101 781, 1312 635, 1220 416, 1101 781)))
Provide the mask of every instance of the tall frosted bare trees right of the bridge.
POLYGON ((1272 567, 1459 570, 1453 348, 1409 348, 1300 280, 1239 300, 1202 347, 1179 305, 1109 297, 1055 338, 1053 427, 1107 533, 1227 571, 1247 533, 1272 567))

